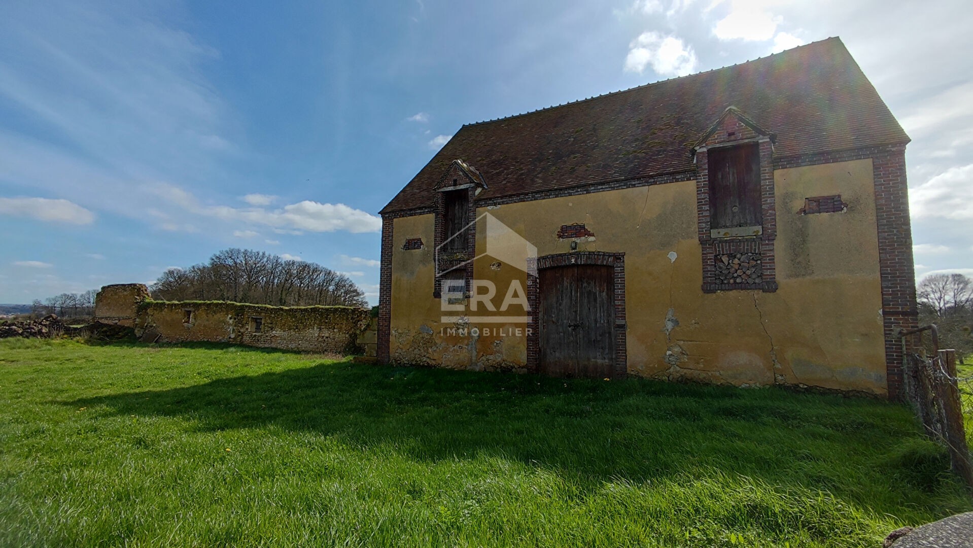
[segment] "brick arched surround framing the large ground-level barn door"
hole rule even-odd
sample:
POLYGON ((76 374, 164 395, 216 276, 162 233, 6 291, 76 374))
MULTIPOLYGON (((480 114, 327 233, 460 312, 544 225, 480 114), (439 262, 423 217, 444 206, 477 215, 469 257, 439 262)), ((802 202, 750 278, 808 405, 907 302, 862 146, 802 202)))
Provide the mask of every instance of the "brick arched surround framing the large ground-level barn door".
MULTIPOLYGON (((615 378, 622 378, 628 374, 628 353, 626 351, 625 321, 625 253, 610 253, 605 251, 574 251, 558 253, 537 258, 537 271, 556 267, 575 265, 603 265, 612 268, 613 302, 614 302, 614 349, 615 349, 615 378)), ((537 275, 527 275, 527 304, 530 307, 529 328, 527 334, 527 369, 538 372, 540 370, 540 284, 537 275)))

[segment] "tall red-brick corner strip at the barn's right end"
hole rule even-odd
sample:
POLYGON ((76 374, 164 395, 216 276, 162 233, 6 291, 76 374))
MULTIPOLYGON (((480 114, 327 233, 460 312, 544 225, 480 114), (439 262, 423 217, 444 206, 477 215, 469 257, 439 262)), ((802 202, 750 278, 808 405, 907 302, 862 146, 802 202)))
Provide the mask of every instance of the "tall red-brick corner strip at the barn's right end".
POLYGON ((879 225, 888 397, 898 399, 903 395, 904 359, 899 334, 904 330, 915 329, 919 321, 905 147, 889 148, 885 154, 873 157, 872 169, 879 225))

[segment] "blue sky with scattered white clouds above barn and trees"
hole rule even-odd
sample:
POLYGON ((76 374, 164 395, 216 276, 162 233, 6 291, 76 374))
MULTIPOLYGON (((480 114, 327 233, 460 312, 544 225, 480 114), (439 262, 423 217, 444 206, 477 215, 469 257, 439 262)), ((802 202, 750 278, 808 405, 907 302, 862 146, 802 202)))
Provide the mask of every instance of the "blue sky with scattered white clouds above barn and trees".
POLYGON ((464 123, 841 36, 913 137, 918 274, 973 274, 962 2, 8 2, 0 303, 236 246, 378 299, 378 209, 464 123))

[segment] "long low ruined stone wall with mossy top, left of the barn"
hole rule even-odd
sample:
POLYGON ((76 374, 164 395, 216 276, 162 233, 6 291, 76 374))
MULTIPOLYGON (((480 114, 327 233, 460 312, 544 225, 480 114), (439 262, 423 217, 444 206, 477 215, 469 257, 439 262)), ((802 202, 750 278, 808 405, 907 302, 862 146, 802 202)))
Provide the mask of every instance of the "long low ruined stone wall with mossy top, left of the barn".
POLYGON ((369 323, 350 307, 267 307, 240 303, 146 301, 136 334, 160 343, 220 342, 289 350, 348 353, 369 323))

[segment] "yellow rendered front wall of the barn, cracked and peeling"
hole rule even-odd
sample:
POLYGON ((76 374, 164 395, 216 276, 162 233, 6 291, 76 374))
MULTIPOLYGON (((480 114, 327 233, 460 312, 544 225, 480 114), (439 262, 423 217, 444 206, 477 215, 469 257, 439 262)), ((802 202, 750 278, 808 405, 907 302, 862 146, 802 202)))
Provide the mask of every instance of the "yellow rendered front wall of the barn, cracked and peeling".
MULTIPOLYGON (((775 197, 775 293, 703 293, 695 180, 481 207, 478 215, 488 212, 502 221, 536 245, 538 256, 570 251, 571 240, 557 233, 572 223, 585 223, 595 233, 578 241, 579 251, 626 253, 630 374, 884 393, 871 160, 776 170, 775 197), (832 194, 842 195, 847 212, 797 213, 805 198, 832 194)), ((450 325, 440 322, 444 313, 432 296, 433 221, 431 214, 394 221, 392 360, 523 368, 525 336, 450 337, 450 325), (410 237, 421 237, 426 246, 402 250, 410 237)), ((478 254, 483 232, 478 227, 478 254)), ((514 278, 526 283, 522 271, 488 257, 475 263, 474 277, 498 288, 514 278)), ((515 333, 518 326, 490 327, 515 333)))

